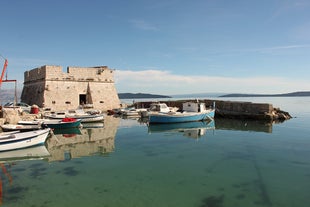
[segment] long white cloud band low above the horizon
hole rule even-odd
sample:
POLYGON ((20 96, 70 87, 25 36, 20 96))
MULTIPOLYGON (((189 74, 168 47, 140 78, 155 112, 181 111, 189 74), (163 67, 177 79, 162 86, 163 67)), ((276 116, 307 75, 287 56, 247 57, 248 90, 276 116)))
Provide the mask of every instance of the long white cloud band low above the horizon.
POLYGON ((118 92, 152 94, 190 93, 286 93, 309 90, 305 80, 281 77, 232 78, 218 76, 177 75, 161 70, 115 71, 118 92))

